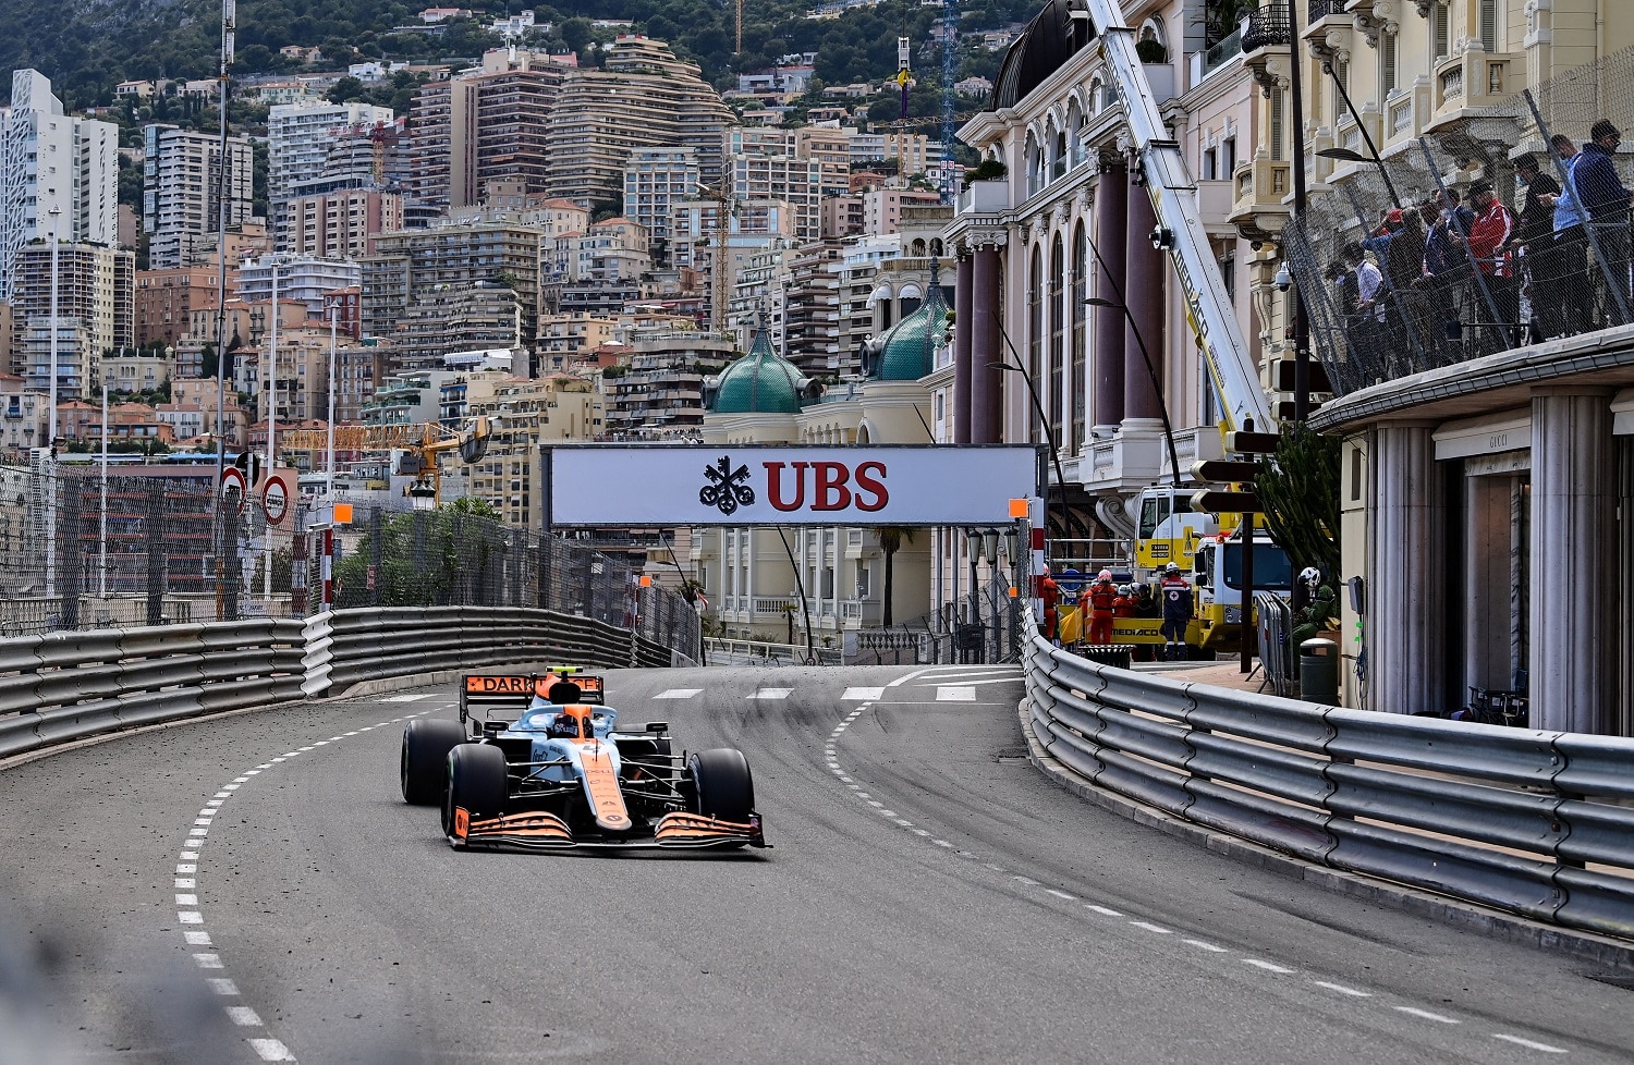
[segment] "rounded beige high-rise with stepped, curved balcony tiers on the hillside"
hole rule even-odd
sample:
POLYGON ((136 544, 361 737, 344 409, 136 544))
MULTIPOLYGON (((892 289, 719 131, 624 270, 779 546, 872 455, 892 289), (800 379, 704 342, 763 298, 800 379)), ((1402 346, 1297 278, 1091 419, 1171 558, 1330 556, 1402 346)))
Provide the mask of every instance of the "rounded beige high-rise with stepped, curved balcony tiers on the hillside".
POLYGON ((699 181, 721 180, 721 147, 732 111, 663 41, 627 34, 600 69, 562 82, 546 123, 549 189, 580 204, 616 201, 624 167, 641 147, 678 145, 698 154, 699 181))

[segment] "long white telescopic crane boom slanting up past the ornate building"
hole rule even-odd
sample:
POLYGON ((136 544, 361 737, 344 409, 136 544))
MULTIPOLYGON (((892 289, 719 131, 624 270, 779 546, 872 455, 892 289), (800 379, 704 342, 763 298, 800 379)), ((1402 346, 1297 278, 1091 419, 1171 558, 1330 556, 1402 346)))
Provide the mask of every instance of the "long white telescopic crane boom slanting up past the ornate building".
MULTIPOLYGON (((1180 144, 1168 136, 1163 116, 1152 96, 1152 85, 1136 56, 1134 31, 1124 23, 1114 0, 1072 0, 1072 16, 1088 18, 1101 42, 1101 56, 1118 83, 1124 105, 1124 121, 1145 172, 1145 191, 1163 234, 1163 247, 1175 265, 1180 289, 1186 299, 1186 319, 1203 348, 1203 358, 1224 407, 1226 430, 1275 426, 1271 408, 1260 387, 1260 374, 1248 343, 1237 325, 1226 279, 1209 250, 1203 229, 1198 186, 1186 172, 1180 144)), ((1155 243, 1155 240, 1154 240, 1155 243)))

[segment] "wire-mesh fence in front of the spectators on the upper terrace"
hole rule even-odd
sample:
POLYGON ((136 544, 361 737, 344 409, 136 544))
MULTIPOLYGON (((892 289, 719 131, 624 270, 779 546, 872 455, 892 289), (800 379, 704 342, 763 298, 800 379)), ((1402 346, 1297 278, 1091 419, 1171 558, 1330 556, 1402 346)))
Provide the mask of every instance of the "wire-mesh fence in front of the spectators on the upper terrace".
MULTIPOLYGON (((1392 131, 1436 96, 1477 106, 1359 163, 1286 227, 1335 394, 1634 320, 1634 160, 1616 152, 1634 49, 1487 101, 1523 74, 1505 64, 1467 52, 1431 95, 1387 101, 1392 131)), ((1359 131, 1338 147, 1368 152, 1359 131)))

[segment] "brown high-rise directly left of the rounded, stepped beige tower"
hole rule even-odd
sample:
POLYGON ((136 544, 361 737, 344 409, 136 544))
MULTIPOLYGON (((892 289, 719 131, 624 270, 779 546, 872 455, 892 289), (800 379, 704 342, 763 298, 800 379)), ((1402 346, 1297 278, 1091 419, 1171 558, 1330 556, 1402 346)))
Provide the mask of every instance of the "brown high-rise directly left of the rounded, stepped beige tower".
POLYGON ((482 203, 493 180, 546 189, 546 123, 572 70, 572 56, 495 49, 482 67, 422 85, 410 114, 410 201, 466 207, 482 203))

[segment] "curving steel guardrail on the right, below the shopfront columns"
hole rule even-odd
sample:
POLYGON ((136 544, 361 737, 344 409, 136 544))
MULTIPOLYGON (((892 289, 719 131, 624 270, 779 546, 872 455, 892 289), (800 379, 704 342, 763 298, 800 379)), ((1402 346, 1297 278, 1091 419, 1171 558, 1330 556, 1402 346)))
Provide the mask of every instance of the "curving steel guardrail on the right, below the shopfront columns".
POLYGON ((1051 756, 1333 869, 1634 936, 1634 740, 1325 707, 1131 673, 1034 639, 1051 756))

